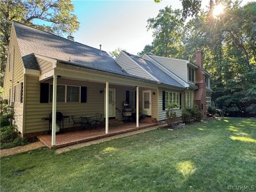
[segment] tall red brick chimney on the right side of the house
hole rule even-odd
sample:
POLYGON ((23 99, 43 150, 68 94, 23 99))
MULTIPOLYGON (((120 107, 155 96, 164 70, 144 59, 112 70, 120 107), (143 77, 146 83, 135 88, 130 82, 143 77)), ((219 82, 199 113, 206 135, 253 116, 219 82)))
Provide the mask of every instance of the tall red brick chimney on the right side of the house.
POLYGON ((202 50, 196 51, 196 64, 199 68, 196 69, 196 85, 198 89, 195 90, 195 99, 194 102, 201 110, 203 119, 206 118, 206 86, 205 86, 205 76, 203 73, 204 70, 204 61, 203 61, 203 52, 202 50))

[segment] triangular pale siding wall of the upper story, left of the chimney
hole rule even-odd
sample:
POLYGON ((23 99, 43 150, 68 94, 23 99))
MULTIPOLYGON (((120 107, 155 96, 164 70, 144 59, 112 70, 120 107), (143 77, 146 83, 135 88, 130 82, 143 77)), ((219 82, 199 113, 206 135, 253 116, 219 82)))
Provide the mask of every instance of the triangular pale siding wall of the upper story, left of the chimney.
POLYGON ((152 56, 152 58, 166 67, 168 70, 172 71, 175 75, 179 76, 184 81, 188 81, 186 60, 176 60, 172 58, 164 58, 161 56, 152 56))

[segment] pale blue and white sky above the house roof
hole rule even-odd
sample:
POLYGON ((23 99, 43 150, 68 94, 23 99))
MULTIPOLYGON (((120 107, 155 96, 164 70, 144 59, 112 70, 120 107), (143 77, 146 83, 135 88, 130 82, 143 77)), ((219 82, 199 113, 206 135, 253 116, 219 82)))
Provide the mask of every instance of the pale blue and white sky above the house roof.
MULTIPOLYGON (((250 0, 249 0, 250 1, 250 0)), ((156 17, 165 6, 182 8, 179 0, 161 1, 72 1, 74 14, 80 22, 80 28, 72 35, 76 42, 102 50, 114 51, 120 47, 127 52, 137 54, 145 45, 151 44, 152 31, 147 31, 147 20, 156 17)), ((202 0, 202 8, 209 0, 202 0)))

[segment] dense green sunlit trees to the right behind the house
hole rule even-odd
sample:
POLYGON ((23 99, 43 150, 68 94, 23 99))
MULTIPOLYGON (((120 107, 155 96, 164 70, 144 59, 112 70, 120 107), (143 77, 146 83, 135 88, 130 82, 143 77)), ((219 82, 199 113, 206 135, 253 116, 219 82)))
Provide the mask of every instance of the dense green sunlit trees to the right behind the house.
MULTIPOLYGON (((193 9, 193 2, 184 1, 184 5, 193 9)), ((218 17, 213 17, 216 3, 210 1, 208 10, 193 14, 186 22, 180 20, 180 10, 160 10, 156 18, 148 20, 154 40, 141 53, 195 62, 195 51, 202 49, 204 68, 212 74, 212 101, 218 109, 228 116, 255 116, 256 2, 224 4, 224 13, 218 17)))

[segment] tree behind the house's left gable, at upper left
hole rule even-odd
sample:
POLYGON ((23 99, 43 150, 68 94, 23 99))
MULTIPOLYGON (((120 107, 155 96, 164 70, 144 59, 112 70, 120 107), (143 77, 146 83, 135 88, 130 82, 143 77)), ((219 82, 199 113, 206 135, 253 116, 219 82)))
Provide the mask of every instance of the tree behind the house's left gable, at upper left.
MULTIPOLYGON (((71 0, 2 0, 0 24, 1 76, 4 75, 12 20, 57 35, 74 33, 79 28, 71 0), (40 23, 40 24, 38 24, 40 23)), ((1 78, 1 84, 3 79, 1 78)))

